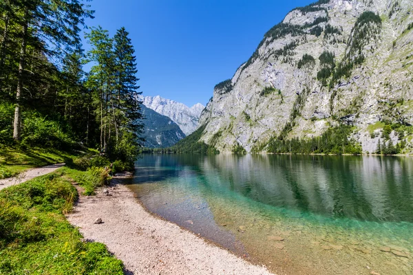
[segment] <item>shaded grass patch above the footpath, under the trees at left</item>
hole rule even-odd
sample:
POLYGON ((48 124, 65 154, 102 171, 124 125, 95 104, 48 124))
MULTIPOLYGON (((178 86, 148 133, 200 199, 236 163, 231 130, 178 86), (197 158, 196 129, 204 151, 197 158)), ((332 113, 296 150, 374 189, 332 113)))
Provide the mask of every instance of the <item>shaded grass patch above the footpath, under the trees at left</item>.
POLYGON ((13 177, 30 168, 67 162, 72 157, 74 153, 44 148, 21 150, 0 147, 0 179, 13 177))

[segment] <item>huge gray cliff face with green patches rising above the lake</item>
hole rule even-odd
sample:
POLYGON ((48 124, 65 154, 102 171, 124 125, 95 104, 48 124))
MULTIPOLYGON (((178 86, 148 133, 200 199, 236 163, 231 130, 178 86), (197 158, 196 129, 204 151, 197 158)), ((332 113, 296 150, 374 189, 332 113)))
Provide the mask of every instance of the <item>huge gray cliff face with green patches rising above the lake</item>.
MULTIPOLYGON (((413 124, 412 8, 411 0, 331 0, 291 11, 233 78, 215 87, 200 117, 201 140, 222 152, 236 144, 251 152, 286 124, 293 125, 287 138, 304 138, 346 123, 363 152, 373 153, 383 122, 413 124), (367 11, 381 23, 358 21, 367 11), (319 59, 325 52, 334 62, 319 59), (334 67, 343 73, 323 79, 320 72, 334 67)), ((402 139, 390 137, 394 145, 402 139)), ((412 151, 412 135, 403 142, 412 151)))

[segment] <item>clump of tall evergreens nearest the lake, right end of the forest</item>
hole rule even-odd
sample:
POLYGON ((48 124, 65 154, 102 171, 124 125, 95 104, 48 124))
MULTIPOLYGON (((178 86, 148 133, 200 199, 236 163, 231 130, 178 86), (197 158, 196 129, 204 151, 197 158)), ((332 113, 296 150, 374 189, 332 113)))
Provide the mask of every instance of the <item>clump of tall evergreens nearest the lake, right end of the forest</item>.
POLYGON ((110 158, 134 161, 138 153, 142 118, 136 83, 136 57, 125 28, 114 39, 107 30, 92 28, 86 35, 92 49, 87 57, 94 66, 87 77, 96 118, 100 124, 100 151, 110 158))

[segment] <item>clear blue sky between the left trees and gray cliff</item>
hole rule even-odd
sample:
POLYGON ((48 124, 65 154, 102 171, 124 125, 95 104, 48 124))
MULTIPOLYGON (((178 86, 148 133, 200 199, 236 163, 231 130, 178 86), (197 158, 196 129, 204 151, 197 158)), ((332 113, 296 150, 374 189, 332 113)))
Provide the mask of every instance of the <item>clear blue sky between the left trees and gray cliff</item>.
MULTIPOLYGON (((314 1, 94 0, 95 19, 113 36, 125 27, 136 50, 144 96, 207 104, 232 78, 264 33, 287 12, 314 1)), ((85 45, 87 49, 87 45, 85 45)))

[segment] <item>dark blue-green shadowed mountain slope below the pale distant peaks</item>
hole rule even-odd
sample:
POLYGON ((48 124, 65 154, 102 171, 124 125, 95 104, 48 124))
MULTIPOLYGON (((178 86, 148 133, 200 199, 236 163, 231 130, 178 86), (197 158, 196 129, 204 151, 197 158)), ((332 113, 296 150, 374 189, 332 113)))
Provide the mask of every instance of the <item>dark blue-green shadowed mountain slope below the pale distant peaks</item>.
POLYGON ((161 115, 145 107, 145 105, 141 105, 141 109, 145 117, 145 119, 142 120, 144 124, 142 137, 145 138, 145 147, 169 147, 185 137, 180 127, 167 116, 161 115))

